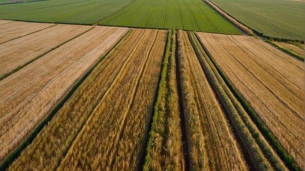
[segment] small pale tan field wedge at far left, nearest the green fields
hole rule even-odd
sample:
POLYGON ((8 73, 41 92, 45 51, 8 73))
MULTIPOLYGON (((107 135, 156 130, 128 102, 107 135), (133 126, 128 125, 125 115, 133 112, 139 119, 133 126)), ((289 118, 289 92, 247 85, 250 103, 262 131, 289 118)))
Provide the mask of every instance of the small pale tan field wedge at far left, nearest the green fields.
POLYGON ((0 25, 0 44, 38 32, 39 30, 55 26, 55 24, 46 23, 28 23, 28 22, 12 22, 5 25, 0 25))

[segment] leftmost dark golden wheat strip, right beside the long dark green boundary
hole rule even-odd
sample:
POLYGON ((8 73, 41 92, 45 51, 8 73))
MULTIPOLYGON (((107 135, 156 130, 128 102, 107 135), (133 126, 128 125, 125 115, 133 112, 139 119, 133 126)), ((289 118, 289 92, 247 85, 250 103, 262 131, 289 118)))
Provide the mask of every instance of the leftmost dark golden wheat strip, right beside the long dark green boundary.
POLYGON ((103 98, 108 88, 136 47, 144 30, 133 30, 96 66, 53 120, 39 133, 11 165, 16 170, 51 170, 64 157, 82 125, 103 98), (40 159, 44 162, 40 163, 40 159))

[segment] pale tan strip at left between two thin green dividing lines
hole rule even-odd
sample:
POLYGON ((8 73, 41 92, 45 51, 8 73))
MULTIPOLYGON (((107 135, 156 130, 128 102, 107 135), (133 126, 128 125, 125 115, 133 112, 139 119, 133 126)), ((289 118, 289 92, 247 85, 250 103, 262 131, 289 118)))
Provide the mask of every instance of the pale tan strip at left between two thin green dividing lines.
POLYGON ((89 30, 89 26, 57 25, 0 45, 0 75, 22 66, 61 43, 89 30))

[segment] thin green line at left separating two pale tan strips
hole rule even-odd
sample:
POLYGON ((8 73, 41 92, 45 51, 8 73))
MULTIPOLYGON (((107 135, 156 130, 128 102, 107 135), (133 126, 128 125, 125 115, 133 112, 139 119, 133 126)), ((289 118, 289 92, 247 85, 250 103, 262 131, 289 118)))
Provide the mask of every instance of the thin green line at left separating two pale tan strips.
MULTIPOLYGON (((49 27, 49 28, 50 28, 50 27, 49 27)), ((71 41, 71 40, 73 40, 73 39, 75 39, 75 38, 81 36, 82 34, 85 34, 85 33, 89 32, 90 30, 92 30, 92 29, 94 29, 94 28, 95 28, 95 27, 92 27, 92 28, 88 29, 87 31, 85 31, 85 32, 83 32, 83 33, 81 33, 81 34, 78 34, 78 35, 76 35, 76 36, 70 38, 69 40, 66 40, 65 42, 63 42, 63 43, 57 45, 56 47, 51 48, 50 50, 48 50, 48 51, 46 51, 46 52, 44 52, 44 53, 42 53, 42 54, 39 54, 37 57, 35 57, 35 58, 33 58, 33 59, 27 61, 26 63, 24 63, 24 64, 18 66, 17 68, 15 68, 15 69, 13 69, 13 70, 11 70, 11 71, 9 71, 9 72, 7 72, 7 73, 1 75, 1 76, 0 76, 0 81, 3 80, 3 79, 5 79, 5 78, 8 77, 8 76, 14 74, 15 72, 19 71, 20 69, 26 67, 27 65, 31 64, 32 62, 36 61, 38 58, 40 58, 40 57, 42 57, 42 56, 44 56, 44 55, 50 53, 51 51, 56 50, 56 49, 59 48, 60 46, 62 46, 62 45, 64 45, 64 44, 68 43, 69 41, 71 41)), ((41 31, 41 30, 40 30, 40 31, 41 31)))

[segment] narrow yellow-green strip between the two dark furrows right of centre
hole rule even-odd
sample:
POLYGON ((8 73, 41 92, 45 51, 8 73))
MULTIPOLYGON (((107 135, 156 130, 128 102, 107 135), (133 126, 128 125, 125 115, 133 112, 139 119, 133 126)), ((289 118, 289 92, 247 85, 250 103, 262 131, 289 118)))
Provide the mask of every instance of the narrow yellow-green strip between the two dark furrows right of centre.
POLYGON ((206 52, 203 50, 195 34, 189 32, 189 35, 198 55, 201 66, 206 72, 207 77, 210 79, 211 86, 213 86, 214 90, 217 92, 218 97, 220 98, 225 110, 227 111, 227 114, 229 115, 228 117, 230 118, 232 125, 235 125, 236 132, 240 137, 243 137, 240 140, 240 143, 244 145, 243 151, 245 153, 245 157, 247 158, 247 162, 249 162, 248 164, 256 164, 250 165, 252 169, 267 169, 264 168, 264 158, 266 157, 266 159, 270 162, 275 170, 287 170, 284 163, 273 151, 263 135, 259 132, 256 125, 249 118, 247 112, 244 110, 240 102, 238 102, 238 100, 234 97, 233 93, 220 75, 220 73, 223 74, 223 72, 218 71, 218 68, 216 68, 218 66, 214 66, 214 64, 211 62, 210 57, 208 57, 206 52), (248 129, 242 128, 245 126, 247 126, 248 129), (265 157, 263 157, 262 154, 257 153, 260 150, 257 148, 256 144, 259 146, 265 157), (252 157, 248 156, 248 154, 252 155, 252 157))

